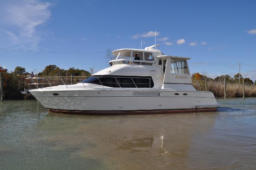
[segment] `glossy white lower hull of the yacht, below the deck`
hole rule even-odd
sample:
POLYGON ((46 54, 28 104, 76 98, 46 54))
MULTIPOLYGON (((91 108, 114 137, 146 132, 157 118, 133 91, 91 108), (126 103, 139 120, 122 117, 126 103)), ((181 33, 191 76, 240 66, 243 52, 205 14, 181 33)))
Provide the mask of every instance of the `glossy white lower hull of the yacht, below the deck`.
POLYGON ((216 108, 212 92, 163 89, 47 90, 30 91, 47 109, 73 111, 140 111, 216 108), (58 96, 54 96, 58 93, 58 96), (175 95, 176 93, 176 95, 175 95), (179 95, 177 95, 177 93, 179 95), (183 95, 184 94, 184 95, 183 95))

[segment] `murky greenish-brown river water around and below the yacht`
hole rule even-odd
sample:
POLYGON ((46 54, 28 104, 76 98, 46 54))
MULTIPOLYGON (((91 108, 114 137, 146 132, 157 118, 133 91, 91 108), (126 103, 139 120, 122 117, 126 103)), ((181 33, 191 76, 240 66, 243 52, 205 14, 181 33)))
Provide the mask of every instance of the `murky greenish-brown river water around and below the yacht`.
POLYGON ((217 112, 90 116, 0 103, 0 169, 253 170, 256 98, 217 112))

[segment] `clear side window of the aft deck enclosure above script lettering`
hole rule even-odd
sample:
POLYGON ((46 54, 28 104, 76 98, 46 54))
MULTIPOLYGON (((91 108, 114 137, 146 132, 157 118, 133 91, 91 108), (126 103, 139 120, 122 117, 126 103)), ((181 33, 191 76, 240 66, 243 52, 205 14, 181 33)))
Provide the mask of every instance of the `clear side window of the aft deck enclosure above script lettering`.
POLYGON ((171 58, 171 73, 172 74, 189 74, 186 60, 171 58))

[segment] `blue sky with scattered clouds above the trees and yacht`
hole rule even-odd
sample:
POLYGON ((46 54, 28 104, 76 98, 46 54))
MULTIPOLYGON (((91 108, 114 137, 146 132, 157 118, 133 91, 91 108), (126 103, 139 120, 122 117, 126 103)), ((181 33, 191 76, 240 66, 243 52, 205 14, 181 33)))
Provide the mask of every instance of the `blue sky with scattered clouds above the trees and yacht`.
POLYGON ((0 66, 28 72, 49 64, 96 71, 106 49, 154 44, 192 58, 191 72, 256 80, 256 1, 2 0, 0 66), (93 52, 93 53, 89 53, 93 52))

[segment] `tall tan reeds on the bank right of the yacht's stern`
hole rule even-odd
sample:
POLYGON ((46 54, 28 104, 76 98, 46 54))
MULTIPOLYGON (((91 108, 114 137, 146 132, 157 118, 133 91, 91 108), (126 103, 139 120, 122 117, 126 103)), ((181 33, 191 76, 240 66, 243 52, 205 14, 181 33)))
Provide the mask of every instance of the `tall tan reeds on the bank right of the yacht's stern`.
MULTIPOLYGON (((192 86, 198 91, 205 91, 205 81, 192 81, 192 86)), ((243 86, 242 83, 239 85, 238 82, 227 82, 227 98, 243 97, 243 86)), ((207 91, 214 94, 215 97, 224 97, 224 81, 208 81, 207 91)), ((244 84, 244 95, 245 97, 256 97, 256 85, 251 83, 244 84)))

